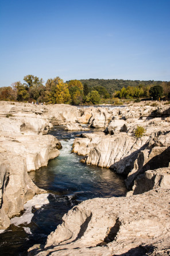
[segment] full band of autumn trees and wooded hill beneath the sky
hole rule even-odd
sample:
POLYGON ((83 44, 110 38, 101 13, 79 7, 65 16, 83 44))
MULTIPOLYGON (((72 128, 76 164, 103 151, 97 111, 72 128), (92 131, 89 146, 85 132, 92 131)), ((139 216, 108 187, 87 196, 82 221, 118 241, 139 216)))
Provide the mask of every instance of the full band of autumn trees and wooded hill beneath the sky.
POLYGON ((70 80, 60 77, 48 79, 33 75, 24 77, 24 83, 14 82, 0 88, 0 100, 25 101, 45 104, 123 104, 123 100, 169 99, 170 82, 132 80, 70 80))

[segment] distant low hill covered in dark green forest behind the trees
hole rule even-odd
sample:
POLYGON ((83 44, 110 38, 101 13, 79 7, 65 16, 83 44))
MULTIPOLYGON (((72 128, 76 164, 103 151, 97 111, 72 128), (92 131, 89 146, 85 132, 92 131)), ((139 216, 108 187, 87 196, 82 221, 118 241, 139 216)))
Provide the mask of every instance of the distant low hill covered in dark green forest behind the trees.
POLYGON ((112 95, 114 91, 119 91, 127 86, 138 86, 138 85, 160 85, 163 81, 140 81, 140 80, 123 80, 123 79, 82 79, 79 80, 82 84, 88 84, 90 87, 94 87, 97 85, 104 86, 107 91, 112 95))

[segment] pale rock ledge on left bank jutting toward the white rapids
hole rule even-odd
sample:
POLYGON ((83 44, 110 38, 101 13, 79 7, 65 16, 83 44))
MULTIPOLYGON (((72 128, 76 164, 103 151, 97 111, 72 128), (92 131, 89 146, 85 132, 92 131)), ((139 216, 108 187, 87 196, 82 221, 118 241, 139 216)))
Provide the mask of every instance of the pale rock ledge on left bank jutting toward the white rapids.
POLYGON ((60 142, 52 135, 17 135, 0 137, 1 149, 26 159, 27 171, 46 166, 49 159, 59 156, 60 142))

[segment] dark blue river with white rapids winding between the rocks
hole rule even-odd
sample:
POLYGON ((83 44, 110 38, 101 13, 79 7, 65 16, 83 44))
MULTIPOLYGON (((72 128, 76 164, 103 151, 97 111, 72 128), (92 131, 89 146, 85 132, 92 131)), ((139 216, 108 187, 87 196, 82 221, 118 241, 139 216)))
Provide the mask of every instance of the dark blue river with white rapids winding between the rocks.
POLYGON ((86 199, 125 195, 123 179, 117 174, 80 163, 81 157, 71 153, 74 138, 80 133, 65 131, 61 126, 51 131, 63 146, 60 156, 50 160, 47 167, 29 173, 38 187, 48 191, 49 203, 40 209, 32 208, 34 215, 30 223, 10 225, 0 234, 0 255, 27 255, 33 244, 45 243, 47 236, 62 222, 64 213, 86 199))

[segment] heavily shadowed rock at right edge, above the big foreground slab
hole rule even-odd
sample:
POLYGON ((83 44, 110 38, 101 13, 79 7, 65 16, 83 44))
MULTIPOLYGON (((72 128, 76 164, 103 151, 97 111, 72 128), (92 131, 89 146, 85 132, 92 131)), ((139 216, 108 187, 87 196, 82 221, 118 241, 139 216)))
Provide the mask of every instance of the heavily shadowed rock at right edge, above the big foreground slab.
MULTIPOLYGON (((161 182, 163 180, 163 176, 165 175, 165 179, 169 176, 169 172, 167 175, 164 174, 163 170, 169 167, 170 163, 170 136, 169 133, 164 135, 159 135, 155 137, 152 141, 149 142, 148 148, 145 150, 141 150, 137 156, 137 159, 134 161, 134 167, 127 175, 127 179, 125 180, 126 186, 130 188, 133 180, 138 179, 145 180, 146 182, 142 182, 142 186, 138 186, 139 180, 134 181, 134 186, 132 191, 129 194, 140 193, 140 191, 148 191, 148 188, 153 189, 154 187, 160 185, 162 186, 164 183, 161 182), (163 169, 162 169, 163 168, 163 169), (155 171, 151 171, 155 170, 155 171), (161 175, 160 175, 161 171, 161 175), (145 173, 146 172, 146 173, 145 173), (158 174, 156 174, 158 172, 158 174), (149 178, 148 175, 153 174, 152 178, 149 178), (161 180, 160 180, 161 178, 161 180), (159 183, 157 180, 160 180, 159 183), (138 192, 137 192, 138 191, 138 192)), ((168 184, 168 183, 167 183, 168 184)))

